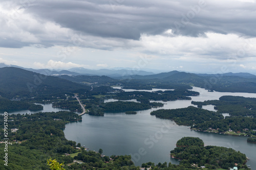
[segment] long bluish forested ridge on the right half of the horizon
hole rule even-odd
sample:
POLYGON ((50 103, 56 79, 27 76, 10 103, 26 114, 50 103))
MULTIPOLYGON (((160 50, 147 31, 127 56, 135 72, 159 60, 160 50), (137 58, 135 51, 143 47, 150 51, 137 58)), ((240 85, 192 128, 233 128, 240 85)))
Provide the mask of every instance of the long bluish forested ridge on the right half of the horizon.
POLYGON ((196 87, 220 92, 250 92, 256 93, 256 76, 251 74, 191 74, 187 72, 170 71, 148 76, 125 76, 119 79, 143 80, 161 83, 189 84, 196 87))

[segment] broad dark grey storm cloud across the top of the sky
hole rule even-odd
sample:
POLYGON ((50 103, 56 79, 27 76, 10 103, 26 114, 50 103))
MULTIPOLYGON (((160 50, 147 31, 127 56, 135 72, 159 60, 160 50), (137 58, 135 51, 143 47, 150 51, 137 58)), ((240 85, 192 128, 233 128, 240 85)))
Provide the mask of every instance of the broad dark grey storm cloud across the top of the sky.
POLYGON ((187 36, 208 31, 256 36, 255 5, 200 1, 36 1, 27 11, 100 37, 138 40, 143 33, 156 35, 168 29, 187 36))

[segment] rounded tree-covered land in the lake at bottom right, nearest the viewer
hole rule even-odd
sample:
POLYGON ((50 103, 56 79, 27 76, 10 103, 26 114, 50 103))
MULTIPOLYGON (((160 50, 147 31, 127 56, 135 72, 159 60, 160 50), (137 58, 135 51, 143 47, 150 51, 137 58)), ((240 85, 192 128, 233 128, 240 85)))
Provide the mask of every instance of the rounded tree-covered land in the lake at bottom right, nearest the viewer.
POLYGON ((172 157, 180 159, 181 163, 196 164, 212 169, 218 167, 228 169, 238 163, 238 168, 247 167, 245 154, 231 148, 206 146, 195 137, 183 137, 176 143, 177 147, 170 151, 172 157))

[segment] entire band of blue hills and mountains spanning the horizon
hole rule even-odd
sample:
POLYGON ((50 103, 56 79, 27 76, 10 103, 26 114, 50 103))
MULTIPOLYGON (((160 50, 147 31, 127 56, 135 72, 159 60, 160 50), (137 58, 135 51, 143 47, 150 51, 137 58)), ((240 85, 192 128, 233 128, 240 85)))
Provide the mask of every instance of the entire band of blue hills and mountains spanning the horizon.
MULTIPOLYGON (((190 85, 223 92, 256 93, 256 76, 243 72, 210 75, 170 71, 151 75, 129 75, 133 72, 129 72, 131 70, 125 69, 89 70, 85 68, 73 68, 71 70, 57 71, 6 66, 5 64, 0 64, 0 67, 2 67, 0 68, 0 95, 9 97, 15 95, 29 96, 29 92, 31 94, 49 94, 63 91, 73 92, 78 89, 90 90, 91 86, 111 85, 123 85, 133 88, 137 88, 141 85, 143 88, 154 88, 156 85, 158 85, 158 87, 190 85), (85 75, 86 72, 88 75, 85 75), (126 73, 129 76, 125 76, 126 73), (91 74, 98 74, 98 76, 92 76, 91 74), (112 77, 102 75, 111 75, 112 77), (115 77, 118 75, 119 77, 115 77), (88 84, 90 84, 90 86, 88 86, 88 84)), ((140 71, 140 73, 150 74, 151 72, 140 71)))

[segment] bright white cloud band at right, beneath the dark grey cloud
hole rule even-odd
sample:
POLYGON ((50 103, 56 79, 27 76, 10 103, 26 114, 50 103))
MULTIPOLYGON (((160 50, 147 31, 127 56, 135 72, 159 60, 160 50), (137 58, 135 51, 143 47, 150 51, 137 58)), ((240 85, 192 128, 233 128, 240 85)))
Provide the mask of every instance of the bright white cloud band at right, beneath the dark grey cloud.
POLYGON ((206 37, 169 37, 143 34, 141 44, 148 52, 170 57, 210 57, 224 60, 232 56, 237 58, 256 56, 256 38, 210 32, 205 35, 206 37))

